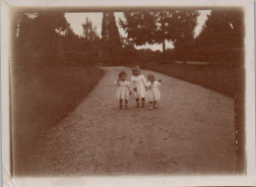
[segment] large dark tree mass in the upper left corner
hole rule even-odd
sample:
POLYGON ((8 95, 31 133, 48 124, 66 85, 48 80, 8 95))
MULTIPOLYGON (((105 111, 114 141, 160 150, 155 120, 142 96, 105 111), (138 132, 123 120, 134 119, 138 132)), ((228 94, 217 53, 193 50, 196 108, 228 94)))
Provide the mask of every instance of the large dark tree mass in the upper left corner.
POLYGON ((56 59, 62 50, 61 34, 65 34, 69 27, 64 14, 54 12, 16 12, 15 14, 19 18, 18 23, 16 22, 18 29, 15 37, 17 52, 27 54, 27 58, 33 60, 56 59))

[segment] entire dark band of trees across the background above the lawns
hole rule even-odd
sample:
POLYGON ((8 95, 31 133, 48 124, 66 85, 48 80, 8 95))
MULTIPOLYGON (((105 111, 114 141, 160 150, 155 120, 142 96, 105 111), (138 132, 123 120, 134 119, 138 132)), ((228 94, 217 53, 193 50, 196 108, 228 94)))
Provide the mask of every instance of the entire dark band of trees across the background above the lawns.
POLYGON ((213 10, 198 37, 197 10, 124 12, 118 24, 127 33, 119 34, 113 12, 102 13, 101 38, 88 18, 83 35, 77 35, 59 12, 13 12, 13 59, 24 62, 123 65, 166 59, 200 60, 233 64, 243 60, 243 12, 213 10), (165 48, 171 41, 174 49, 165 48), (162 45, 162 55, 136 50, 134 45, 162 45))

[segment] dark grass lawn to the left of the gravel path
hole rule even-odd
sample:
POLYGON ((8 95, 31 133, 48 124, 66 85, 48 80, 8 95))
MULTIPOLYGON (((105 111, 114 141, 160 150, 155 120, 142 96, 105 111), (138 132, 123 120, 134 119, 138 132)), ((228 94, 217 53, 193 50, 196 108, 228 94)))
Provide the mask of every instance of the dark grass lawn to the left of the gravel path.
POLYGON ((11 65, 15 173, 26 171, 36 141, 73 111, 102 76, 96 67, 11 65))

